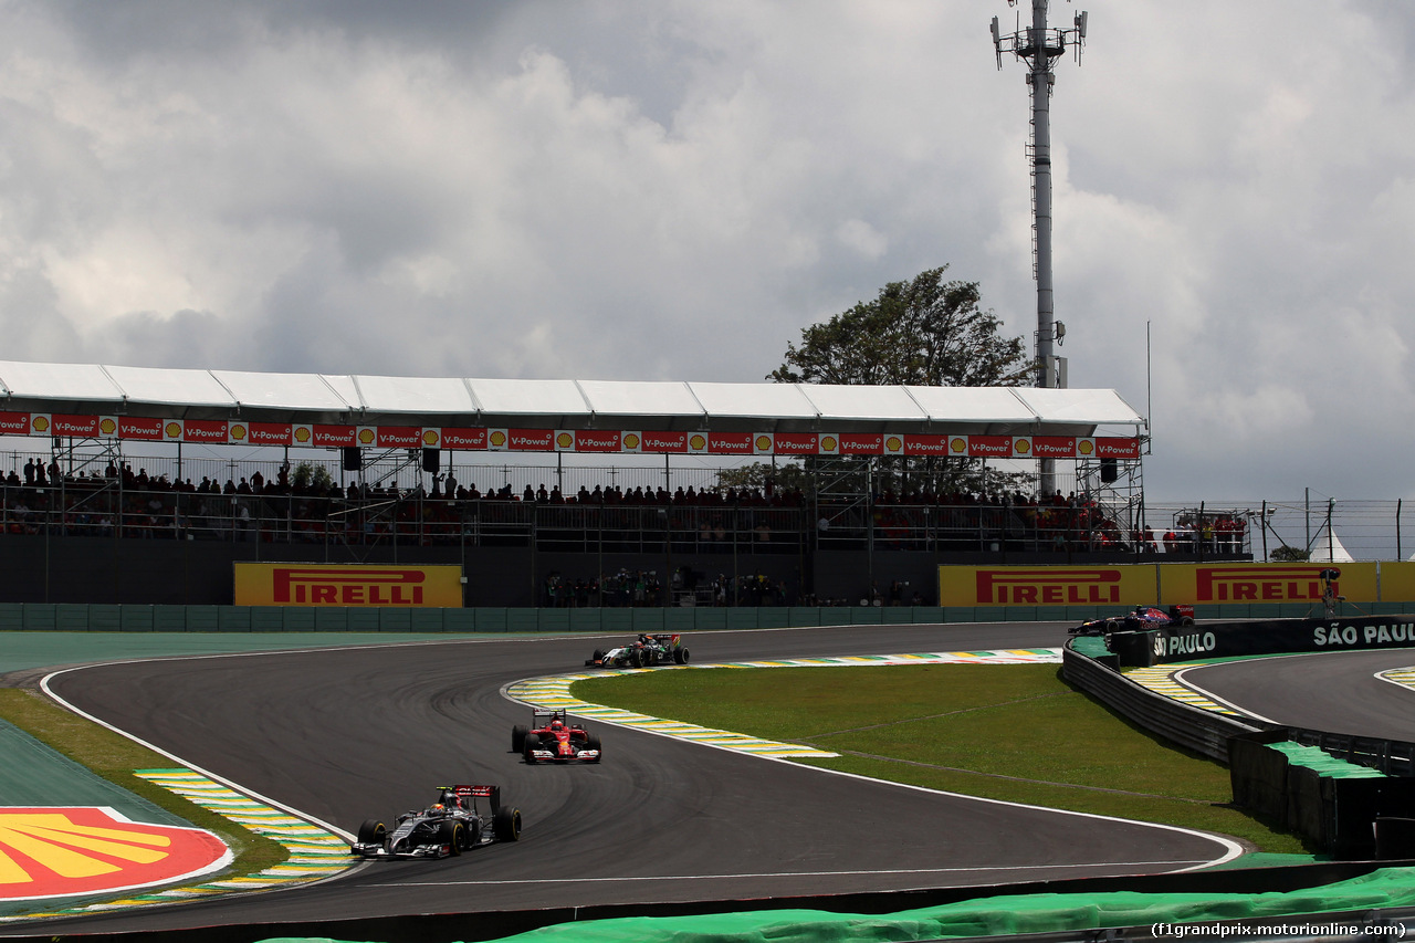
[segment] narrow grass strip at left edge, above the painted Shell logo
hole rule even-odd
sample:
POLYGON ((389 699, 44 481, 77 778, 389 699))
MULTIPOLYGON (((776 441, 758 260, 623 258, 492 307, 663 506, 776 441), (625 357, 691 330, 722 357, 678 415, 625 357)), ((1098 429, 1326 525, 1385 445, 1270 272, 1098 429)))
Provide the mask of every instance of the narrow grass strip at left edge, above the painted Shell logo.
POLYGON ((139 769, 170 769, 173 762, 126 736, 65 711, 37 691, 0 688, 0 719, 8 721, 108 782, 212 833, 226 842, 235 855, 231 864, 232 874, 265 871, 290 857, 280 842, 248 831, 229 818, 133 776, 133 770, 139 769))

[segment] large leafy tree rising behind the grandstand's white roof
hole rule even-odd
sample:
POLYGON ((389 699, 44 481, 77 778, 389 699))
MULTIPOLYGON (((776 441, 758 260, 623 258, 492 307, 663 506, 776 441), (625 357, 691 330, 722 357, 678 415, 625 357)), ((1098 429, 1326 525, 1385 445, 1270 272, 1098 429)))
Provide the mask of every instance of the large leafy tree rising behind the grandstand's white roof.
POLYGON ((1023 387, 1034 362, 1020 337, 978 307, 976 282, 944 282, 948 266, 913 282, 890 282, 860 302, 801 331, 785 362, 767 374, 781 384, 908 384, 920 387, 1023 387))

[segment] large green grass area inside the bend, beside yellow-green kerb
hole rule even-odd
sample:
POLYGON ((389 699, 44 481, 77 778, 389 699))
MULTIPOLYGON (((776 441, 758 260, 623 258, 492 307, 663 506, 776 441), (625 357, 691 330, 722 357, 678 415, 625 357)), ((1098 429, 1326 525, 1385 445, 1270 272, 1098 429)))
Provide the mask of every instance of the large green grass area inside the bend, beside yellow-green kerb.
POLYGON ((841 755, 794 760, 824 769, 1306 852, 1296 835, 1232 806, 1228 767, 1112 714, 1054 664, 644 671, 576 681, 570 692, 841 755))

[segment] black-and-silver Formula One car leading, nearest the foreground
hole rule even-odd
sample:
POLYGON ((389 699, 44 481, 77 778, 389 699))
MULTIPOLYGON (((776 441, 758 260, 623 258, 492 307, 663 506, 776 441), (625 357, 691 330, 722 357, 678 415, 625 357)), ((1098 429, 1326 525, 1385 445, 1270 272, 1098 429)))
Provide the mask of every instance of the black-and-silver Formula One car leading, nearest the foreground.
POLYGON ((501 804, 499 786, 439 786, 437 801, 393 820, 389 831, 378 818, 358 827, 350 854, 362 858, 446 858, 477 845, 521 837, 521 810, 501 804), (483 816, 477 800, 488 800, 483 816))

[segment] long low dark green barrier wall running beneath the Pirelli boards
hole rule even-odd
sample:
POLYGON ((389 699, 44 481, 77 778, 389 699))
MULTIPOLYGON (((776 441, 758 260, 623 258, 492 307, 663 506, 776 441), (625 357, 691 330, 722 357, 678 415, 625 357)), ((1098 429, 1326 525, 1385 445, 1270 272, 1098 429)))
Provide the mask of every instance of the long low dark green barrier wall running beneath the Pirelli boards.
MULTIPOLYGON (((1367 606, 1368 607, 1368 606, 1367 606)), ((1391 603, 1387 612, 1409 606, 1391 603)), ((1306 605, 1196 606, 1200 619, 1302 616, 1306 605)), ((1373 610, 1373 612, 1378 612, 1373 610)), ((0 631, 706 631, 799 626, 1070 622, 1114 606, 764 606, 682 609, 412 609, 0 603, 0 631)), ((1415 620, 1415 617, 1412 617, 1415 620)), ((1266 624, 1266 623, 1265 623, 1266 624)))

